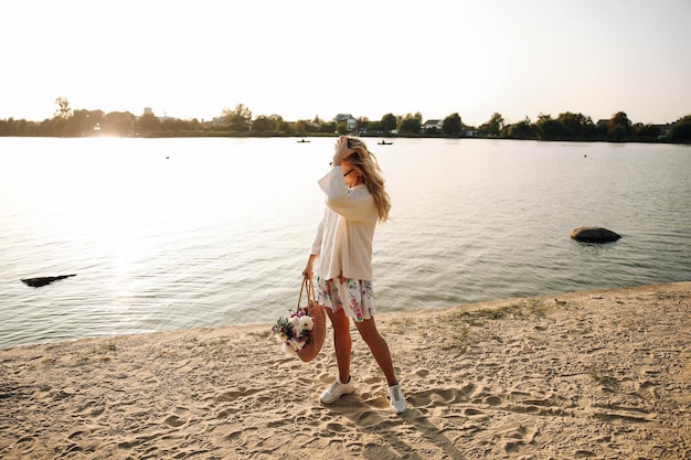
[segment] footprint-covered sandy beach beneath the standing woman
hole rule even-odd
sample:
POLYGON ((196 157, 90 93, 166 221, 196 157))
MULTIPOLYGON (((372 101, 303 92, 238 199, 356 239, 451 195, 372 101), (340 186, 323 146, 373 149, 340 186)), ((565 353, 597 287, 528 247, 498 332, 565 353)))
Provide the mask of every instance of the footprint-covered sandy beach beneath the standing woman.
POLYGON ((357 391, 332 406, 330 328, 311 363, 283 354, 270 324, 2 350, 0 458, 691 458, 691 282, 378 324, 403 415, 354 329, 357 391))

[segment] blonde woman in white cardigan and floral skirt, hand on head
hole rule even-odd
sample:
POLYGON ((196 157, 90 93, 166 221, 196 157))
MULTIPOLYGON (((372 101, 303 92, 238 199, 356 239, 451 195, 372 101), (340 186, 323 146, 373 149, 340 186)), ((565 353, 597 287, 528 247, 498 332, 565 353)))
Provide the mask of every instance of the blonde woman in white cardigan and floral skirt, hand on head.
POLYGON ((333 404, 355 391, 350 375, 350 319, 370 347, 389 384, 391 409, 405 411, 405 398, 391 361, 389 345, 374 323, 372 238, 378 222, 389 217, 391 202, 376 158, 358 138, 341 136, 332 168, 319 181, 327 208, 319 224, 302 276, 312 279, 317 261, 317 301, 333 325, 338 378, 321 394, 333 404))

